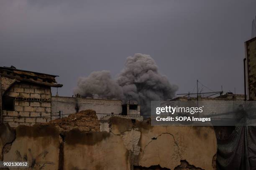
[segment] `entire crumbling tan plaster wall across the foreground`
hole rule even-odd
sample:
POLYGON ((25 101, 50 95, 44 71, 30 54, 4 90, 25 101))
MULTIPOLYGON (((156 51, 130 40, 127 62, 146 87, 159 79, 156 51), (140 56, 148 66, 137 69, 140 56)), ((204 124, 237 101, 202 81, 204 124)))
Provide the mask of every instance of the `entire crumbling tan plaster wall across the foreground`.
POLYGON ((3 160, 35 158, 42 170, 213 169, 217 145, 212 127, 153 127, 150 120, 120 117, 110 122, 109 133, 19 126, 3 160))

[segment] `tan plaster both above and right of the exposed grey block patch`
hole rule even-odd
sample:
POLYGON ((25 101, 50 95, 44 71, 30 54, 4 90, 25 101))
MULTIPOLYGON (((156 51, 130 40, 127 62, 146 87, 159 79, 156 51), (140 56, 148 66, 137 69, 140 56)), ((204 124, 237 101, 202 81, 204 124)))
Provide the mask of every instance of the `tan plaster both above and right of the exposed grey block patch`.
POLYGON ((112 132, 124 135, 130 130, 133 135, 133 165, 144 168, 159 165, 173 170, 181 160, 205 170, 212 170, 212 159, 217 152, 217 141, 212 127, 151 126, 148 122, 131 123, 131 120, 112 119, 112 132), (138 148, 140 152, 138 154, 138 148))

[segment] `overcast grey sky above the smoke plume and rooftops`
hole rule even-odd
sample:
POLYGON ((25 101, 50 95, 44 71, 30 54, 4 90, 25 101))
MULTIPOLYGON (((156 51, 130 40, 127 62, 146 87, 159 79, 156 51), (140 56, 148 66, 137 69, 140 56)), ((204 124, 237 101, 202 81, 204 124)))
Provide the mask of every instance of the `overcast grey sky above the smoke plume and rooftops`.
POLYGON ((79 76, 115 77, 126 57, 143 53, 178 92, 192 92, 199 79, 243 93, 255 7, 255 0, 0 0, 0 66, 59 75, 59 95, 70 96, 79 76))

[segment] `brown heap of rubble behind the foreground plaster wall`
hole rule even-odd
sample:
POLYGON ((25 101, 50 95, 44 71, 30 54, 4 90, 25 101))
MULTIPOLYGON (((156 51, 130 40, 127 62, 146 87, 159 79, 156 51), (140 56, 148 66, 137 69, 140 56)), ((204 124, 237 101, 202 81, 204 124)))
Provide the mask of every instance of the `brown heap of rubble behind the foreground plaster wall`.
POLYGON ((68 117, 51 120, 47 124, 54 125, 60 131, 79 129, 82 131, 100 131, 100 122, 94 110, 82 110, 68 117))

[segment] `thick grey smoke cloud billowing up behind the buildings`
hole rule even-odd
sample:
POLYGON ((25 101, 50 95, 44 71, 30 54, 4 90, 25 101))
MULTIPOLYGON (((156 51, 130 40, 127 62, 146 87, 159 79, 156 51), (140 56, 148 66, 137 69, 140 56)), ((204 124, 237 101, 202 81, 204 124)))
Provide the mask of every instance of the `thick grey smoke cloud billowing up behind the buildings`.
POLYGON ((83 97, 136 101, 141 105, 142 114, 150 114, 151 101, 171 99, 177 89, 158 72, 150 55, 135 54, 127 58, 116 80, 109 71, 92 72, 88 77, 79 77, 74 93, 83 97))

